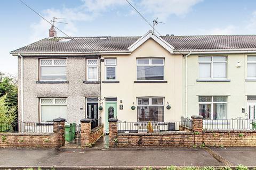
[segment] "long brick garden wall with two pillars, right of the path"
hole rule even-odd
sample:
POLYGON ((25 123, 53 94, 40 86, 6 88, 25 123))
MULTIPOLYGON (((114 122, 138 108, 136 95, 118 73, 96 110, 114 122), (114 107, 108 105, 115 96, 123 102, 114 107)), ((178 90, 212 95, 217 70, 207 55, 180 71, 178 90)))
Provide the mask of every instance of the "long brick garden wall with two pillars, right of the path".
POLYGON ((110 120, 109 147, 256 146, 256 131, 203 131, 202 117, 192 120, 190 132, 162 133, 117 133, 116 120, 110 120))

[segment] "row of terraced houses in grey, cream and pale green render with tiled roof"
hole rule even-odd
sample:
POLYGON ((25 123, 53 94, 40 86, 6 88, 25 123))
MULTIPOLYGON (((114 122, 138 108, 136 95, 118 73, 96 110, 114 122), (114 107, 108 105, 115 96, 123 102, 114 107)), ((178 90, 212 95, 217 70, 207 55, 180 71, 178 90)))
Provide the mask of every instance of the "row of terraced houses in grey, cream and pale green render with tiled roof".
POLYGON ((19 121, 256 118, 256 35, 57 37, 18 56, 19 121))

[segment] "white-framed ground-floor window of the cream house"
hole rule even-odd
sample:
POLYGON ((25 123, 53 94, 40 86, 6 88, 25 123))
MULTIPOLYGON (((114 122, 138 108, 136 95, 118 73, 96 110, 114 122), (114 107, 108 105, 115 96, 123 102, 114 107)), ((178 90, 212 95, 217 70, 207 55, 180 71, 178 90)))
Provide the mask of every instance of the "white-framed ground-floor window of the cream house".
POLYGON ((137 98, 137 117, 138 122, 163 122, 164 98, 137 98))

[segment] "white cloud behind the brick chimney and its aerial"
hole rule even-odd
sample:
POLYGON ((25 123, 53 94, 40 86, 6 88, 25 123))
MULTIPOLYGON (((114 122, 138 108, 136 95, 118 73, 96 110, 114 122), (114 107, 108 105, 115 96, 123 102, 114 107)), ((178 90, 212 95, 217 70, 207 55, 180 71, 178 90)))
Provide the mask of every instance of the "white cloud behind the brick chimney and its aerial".
MULTIPOLYGON (((48 21, 54 17, 66 18, 66 20, 58 20, 59 22, 68 22, 68 24, 58 24, 55 23, 56 27, 60 27, 63 32, 69 36, 76 36, 78 33, 78 28, 76 27, 76 22, 78 21, 92 21, 101 12, 106 11, 109 7, 114 7, 117 5, 124 5, 124 1, 119 0, 81 0, 82 5, 74 8, 63 7, 61 9, 46 9, 42 12, 42 16, 48 21)), ((30 25, 32 29, 32 34, 29 38, 30 42, 42 39, 49 36, 48 30, 51 25, 45 20, 40 19, 39 22, 30 25)), ((65 36, 63 33, 57 30, 57 36, 65 36)))

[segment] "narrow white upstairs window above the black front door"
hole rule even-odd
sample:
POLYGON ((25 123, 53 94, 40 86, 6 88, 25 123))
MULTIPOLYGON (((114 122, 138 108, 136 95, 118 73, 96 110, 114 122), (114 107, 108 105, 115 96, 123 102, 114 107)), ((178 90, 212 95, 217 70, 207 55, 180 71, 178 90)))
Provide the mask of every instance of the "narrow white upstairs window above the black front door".
POLYGON ((98 59, 87 59, 86 67, 86 80, 98 81, 98 59))

